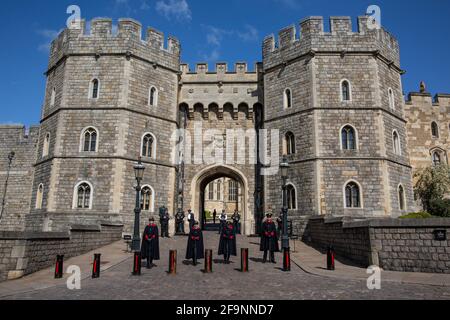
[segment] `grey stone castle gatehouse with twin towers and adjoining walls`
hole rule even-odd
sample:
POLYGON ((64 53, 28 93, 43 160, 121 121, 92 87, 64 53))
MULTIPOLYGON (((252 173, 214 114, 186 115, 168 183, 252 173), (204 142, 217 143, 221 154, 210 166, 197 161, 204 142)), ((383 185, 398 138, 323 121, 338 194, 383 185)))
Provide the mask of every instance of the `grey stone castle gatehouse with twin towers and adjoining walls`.
POLYGON ((131 19, 120 20, 117 33, 103 18, 89 32, 84 21, 64 30, 51 46, 40 125, 26 135, 21 126, 0 127, 0 229, 55 232, 106 222, 131 232, 133 165, 142 157, 143 222, 163 205, 171 213, 192 208, 200 219, 206 187, 228 178, 239 184, 244 233, 255 233, 264 212, 281 208, 280 176, 262 175, 258 163, 174 164, 173 132, 195 137, 198 123, 217 130, 215 143, 230 129, 279 131, 279 154, 291 165, 289 218, 299 230, 311 216, 415 210, 413 167, 431 165, 436 152, 447 161, 450 99, 435 101, 444 110, 435 120, 438 137, 431 123, 433 130, 427 122, 410 128, 408 119, 418 121, 414 103, 431 108, 431 95, 412 94, 405 108, 398 42, 368 29, 367 19, 359 17, 353 31, 349 17, 332 17, 324 32, 322 17, 306 18, 300 32, 290 26, 278 40, 265 38, 263 61, 252 70, 242 62, 191 70, 180 63, 177 39, 165 41, 152 28, 142 37, 131 19), (410 158, 411 141, 429 130, 431 149, 414 145, 410 158))

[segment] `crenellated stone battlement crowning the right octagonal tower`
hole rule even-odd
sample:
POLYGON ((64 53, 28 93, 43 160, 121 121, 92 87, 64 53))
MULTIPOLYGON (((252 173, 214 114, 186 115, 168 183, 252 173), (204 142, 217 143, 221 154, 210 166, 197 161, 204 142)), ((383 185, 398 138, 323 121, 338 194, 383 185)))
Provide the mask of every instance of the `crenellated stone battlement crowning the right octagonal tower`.
POLYGON ((367 16, 358 17, 353 31, 351 17, 330 17, 330 32, 325 32, 323 17, 308 17, 288 26, 263 41, 264 68, 285 64, 302 55, 320 52, 362 53, 382 55, 387 62, 400 68, 398 41, 383 28, 370 29, 367 16))

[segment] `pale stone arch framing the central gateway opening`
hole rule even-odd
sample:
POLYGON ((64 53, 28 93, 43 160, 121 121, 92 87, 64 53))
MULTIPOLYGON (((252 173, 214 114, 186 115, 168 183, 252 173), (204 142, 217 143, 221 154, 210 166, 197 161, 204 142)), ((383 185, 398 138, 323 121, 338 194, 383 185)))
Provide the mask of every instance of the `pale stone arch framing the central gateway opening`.
MULTIPOLYGON (((196 219, 205 227, 205 190, 207 186, 217 179, 228 178, 236 181, 238 184, 237 209, 241 215, 242 234, 255 234, 255 216, 249 205, 249 186, 248 179, 240 170, 227 165, 214 165, 201 170, 192 179, 191 190, 191 208, 195 213, 196 219)), ((228 218, 232 212, 226 212, 228 218)), ((218 210, 218 214, 220 211, 218 210)))

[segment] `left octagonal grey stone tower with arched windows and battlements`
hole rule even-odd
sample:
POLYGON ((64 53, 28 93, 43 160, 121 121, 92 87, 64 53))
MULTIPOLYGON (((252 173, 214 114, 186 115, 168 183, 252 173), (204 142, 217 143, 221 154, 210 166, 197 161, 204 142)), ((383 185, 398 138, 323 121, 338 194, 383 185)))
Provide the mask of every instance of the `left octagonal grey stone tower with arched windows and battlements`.
MULTIPOLYGON (((132 228, 133 165, 146 165, 143 217, 173 211, 175 167, 170 136, 177 128, 180 43, 154 28, 121 19, 65 29, 51 45, 33 194, 42 208, 30 228, 119 221, 132 228), (46 146, 47 145, 47 146, 46 146)), ((146 219, 143 219, 145 223, 146 219)))

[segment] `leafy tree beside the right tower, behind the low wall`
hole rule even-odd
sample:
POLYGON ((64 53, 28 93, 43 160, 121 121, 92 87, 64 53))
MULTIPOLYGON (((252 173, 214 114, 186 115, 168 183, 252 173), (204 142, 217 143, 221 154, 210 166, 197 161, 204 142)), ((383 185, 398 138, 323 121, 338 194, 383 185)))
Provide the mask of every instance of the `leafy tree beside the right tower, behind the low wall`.
POLYGON ((449 205, 449 201, 444 198, 450 191, 450 167, 438 165, 424 168, 418 171, 414 178, 414 194, 422 201, 424 209, 433 215, 445 215, 442 206, 449 205))

